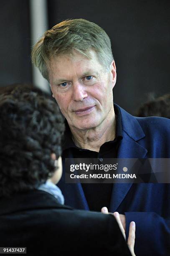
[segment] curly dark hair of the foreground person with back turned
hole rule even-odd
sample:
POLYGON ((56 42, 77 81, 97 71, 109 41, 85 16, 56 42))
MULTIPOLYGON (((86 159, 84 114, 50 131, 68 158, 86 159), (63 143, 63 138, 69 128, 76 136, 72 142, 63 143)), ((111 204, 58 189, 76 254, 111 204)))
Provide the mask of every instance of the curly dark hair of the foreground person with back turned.
POLYGON ((56 169, 64 119, 58 105, 16 87, 0 95, 0 196, 36 189, 56 169))

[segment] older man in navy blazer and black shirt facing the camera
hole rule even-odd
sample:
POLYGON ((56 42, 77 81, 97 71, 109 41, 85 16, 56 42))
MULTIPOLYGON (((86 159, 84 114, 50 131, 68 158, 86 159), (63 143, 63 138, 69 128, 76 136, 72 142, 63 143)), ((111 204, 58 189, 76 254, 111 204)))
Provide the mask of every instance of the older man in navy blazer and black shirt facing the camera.
MULTIPOLYGON (((170 120, 135 118, 113 104, 116 65, 107 33, 83 19, 65 20, 33 48, 32 60, 66 118, 65 158, 169 158, 170 120)), ((64 173, 64 172, 63 172, 64 173)), ((169 184, 65 184, 66 204, 121 213, 137 225, 137 255, 167 255, 169 184)))

